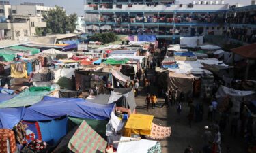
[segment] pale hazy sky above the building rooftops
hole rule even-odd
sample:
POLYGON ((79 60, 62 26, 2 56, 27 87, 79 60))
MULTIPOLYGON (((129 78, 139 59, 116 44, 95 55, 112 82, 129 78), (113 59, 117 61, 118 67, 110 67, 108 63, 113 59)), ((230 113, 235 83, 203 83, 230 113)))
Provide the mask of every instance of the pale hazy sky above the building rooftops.
MULTIPOLYGON (((18 5, 23 2, 36 2, 44 3, 45 6, 59 5, 64 7, 68 14, 76 12, 79 16, 83 16, 83 0, 10 0, 11 5, 18 5)), ((117 0, 118 1, 118 0, 117 0)), ((179 0, 180 3, 191 3, 193 0, 179 0)), ((235 3, 241 3, 243 5, 250 5, 251 0, 225 0, 226 3, 233 5, 235 3)))

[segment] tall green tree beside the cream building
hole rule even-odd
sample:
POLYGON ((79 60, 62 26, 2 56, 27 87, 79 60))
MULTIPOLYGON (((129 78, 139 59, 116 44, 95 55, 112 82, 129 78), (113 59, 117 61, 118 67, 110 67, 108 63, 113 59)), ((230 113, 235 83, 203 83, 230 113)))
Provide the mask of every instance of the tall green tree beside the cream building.
POLYGON ((48 14, 44 15, 47 23, 48 33, 71 33, 76 29, 76 18, 77 14, 66 15, 66 11, 62 7, 55 6, 51 9, 48 14))

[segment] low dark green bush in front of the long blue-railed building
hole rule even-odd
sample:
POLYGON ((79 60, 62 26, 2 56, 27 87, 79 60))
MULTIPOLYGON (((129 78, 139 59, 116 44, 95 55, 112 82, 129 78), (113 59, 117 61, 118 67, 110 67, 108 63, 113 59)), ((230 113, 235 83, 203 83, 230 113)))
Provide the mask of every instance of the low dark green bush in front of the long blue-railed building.
POLYGON ((100 41, 102 43, 111 43, 117 41, 118 37, 115 33, 96 33, 89 37, 90 41, 100 41))

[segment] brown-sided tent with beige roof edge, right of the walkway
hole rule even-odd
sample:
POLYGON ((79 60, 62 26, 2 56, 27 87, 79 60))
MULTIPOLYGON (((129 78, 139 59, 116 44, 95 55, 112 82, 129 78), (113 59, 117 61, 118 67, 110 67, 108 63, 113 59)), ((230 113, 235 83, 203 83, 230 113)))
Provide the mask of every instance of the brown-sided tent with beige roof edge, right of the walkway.
POLYGON ((176 90, 178 88, 179 92, 189 93, 193 91, 193 80, 193 75, 170 72, 169 77, 167 77, 167 88, 169 90, 176 90))

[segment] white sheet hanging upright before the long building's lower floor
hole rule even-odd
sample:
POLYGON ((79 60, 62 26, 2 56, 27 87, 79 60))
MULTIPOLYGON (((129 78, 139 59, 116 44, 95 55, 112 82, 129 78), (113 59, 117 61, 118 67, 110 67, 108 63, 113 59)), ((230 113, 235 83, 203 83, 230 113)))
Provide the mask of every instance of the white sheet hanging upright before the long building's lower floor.
POLYGON ((195 48, 200 44, 203 44, 203 36, 180 37, 180 45, 188 46, 190 48, 195 48))

